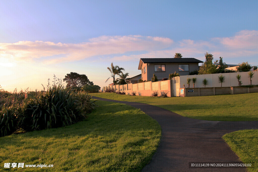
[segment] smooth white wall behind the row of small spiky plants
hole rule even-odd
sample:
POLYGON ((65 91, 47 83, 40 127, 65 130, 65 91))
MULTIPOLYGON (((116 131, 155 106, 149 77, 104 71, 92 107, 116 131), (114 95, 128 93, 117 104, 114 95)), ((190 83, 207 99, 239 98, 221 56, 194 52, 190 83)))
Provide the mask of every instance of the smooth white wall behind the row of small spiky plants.
MULTIPOLYGON (((221 83, 219 83, 218 77, 220 75, 225 76, 225 82, 222 83, 222 87, 230 87, 230 86, 238 86, 238 81, 236 75, 241 75, 242 85, 249 85, 250 78, 248 78, 248 72, 234 72, 234 73, 215 73, 215 74, 206 74, 206 75, 186 75, 180 76, 180 88, 188 87, 187 78, 197 78, 197 82, 195 83, 196 88, 204 87, 202 82, 203 79, 206 78, 208 80, 208 85, 206 87, 220 87, 221 83)), ((258 85, 258 71, 254 71, 254 77, 252 78, 252 84, 258 85)), ((193 87, 193 84, 190 84, 190 88, 193 87)))

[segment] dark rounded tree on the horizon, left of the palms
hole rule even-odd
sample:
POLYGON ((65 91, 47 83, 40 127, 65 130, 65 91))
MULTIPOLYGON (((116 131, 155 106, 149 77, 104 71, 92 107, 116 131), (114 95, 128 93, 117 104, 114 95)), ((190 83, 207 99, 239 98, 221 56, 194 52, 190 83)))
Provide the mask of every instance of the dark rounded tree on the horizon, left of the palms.
POLYGON ((63 81, 67 83, 66 87, 82 87, 86 84, 93 85, 93 82, 86 75, 76 72, 67 73, 63 81))

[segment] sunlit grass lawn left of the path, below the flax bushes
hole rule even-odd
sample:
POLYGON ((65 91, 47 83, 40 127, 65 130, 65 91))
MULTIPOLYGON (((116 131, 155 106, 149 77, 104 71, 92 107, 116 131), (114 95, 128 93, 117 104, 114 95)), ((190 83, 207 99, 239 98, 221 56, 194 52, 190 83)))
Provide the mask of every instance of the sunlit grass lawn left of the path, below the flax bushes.
POLYGON ((112 102, 76 124, 0 138, 0 168, 22 163, 22 171, 140 171, 157 149, 161 129, 139 109, 112 102), (25 167, 53 164, 53 168, 25 167))

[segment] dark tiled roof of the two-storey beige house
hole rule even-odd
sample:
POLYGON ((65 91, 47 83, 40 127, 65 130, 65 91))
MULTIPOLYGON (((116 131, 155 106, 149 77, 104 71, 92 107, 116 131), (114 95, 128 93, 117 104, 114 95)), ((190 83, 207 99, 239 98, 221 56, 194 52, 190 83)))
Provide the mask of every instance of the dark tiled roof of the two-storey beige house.
POLYGON ((195 58, 141 58, 143 63, 203 63, 195 58))

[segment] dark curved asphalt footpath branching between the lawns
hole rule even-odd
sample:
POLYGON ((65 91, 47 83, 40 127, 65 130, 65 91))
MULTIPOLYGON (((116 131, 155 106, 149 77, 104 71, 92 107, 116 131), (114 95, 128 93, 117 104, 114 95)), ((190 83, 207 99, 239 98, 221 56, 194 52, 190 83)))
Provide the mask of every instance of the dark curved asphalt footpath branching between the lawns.
POLYGON ((257 129, 258 121, 206 121, 149 104, 92 98, 130 105, 158 121, 162 138, 151 162, 142 171, 246 171, 245 168, 189 168, 189 162, 239 162, 222 136, 237 130, 257 129))

